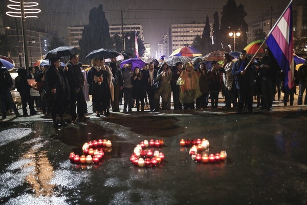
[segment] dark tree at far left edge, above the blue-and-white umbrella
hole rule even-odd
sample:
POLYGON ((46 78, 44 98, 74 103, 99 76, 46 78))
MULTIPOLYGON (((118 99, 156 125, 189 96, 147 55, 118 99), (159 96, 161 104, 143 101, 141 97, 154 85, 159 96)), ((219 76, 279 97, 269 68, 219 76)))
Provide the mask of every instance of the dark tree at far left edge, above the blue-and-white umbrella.
POLYGON ((0 55, 8 56, 10 52, 12 56, 18 56, 18 52, 15 50, 17 46, 17 40, 15 38, 5 34, 0 35, 0 55))

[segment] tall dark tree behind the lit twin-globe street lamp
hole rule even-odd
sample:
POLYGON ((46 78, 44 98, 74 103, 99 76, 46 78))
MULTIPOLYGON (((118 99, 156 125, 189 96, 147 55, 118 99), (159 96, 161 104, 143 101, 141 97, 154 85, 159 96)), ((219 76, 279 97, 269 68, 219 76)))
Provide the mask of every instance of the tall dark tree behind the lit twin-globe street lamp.
POLYGON ((240 4, 236 6, 235 0, 228 0, 223 6, 221 17, 221 42, 223 48, 233 44, 233 38, 229 37, 228 33, 240 31, 241 35, 236 38, 236 50, 242 50, 247 44, 248 25, 245 22, 247 13, 244 6, 240 4))

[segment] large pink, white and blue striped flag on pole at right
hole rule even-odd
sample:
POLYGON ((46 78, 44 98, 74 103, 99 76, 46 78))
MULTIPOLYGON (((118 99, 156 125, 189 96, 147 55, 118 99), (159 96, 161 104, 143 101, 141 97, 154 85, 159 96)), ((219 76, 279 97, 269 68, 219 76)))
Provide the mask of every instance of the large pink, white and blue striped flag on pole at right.
POLYGON ((268 34, 266 43, 284 73, 284 86, 294 86, 292 1, 268 34), (289 72, 290 71, 290 72, 289 72))

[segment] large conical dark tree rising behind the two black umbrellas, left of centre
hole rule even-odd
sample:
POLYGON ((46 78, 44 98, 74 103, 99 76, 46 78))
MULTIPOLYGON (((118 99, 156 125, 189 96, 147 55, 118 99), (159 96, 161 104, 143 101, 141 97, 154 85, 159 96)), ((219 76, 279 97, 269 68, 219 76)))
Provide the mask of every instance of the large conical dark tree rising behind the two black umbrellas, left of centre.
POLYGON ((109 25, 101 4, 98 8, 94 7, 91 9, 89 25, 84 27, 82 38, 79 40, 79 46, 81 49, 80 58, 82 61, 85 60, 87 54, 95 49, 112 47, 109 25))

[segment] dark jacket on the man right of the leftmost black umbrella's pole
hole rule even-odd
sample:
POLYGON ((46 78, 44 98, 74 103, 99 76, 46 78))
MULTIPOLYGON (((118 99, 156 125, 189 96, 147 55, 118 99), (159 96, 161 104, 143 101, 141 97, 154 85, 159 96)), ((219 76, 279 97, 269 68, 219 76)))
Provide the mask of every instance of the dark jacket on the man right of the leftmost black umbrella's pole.
POLYGON ((78 93, 84 84, 84 76, 81 69, 71 63, 71 61, 69 61, 66 66, 68 67, 68 71, 65 72, 67 72, 69 90, 71 93, 78 93))

